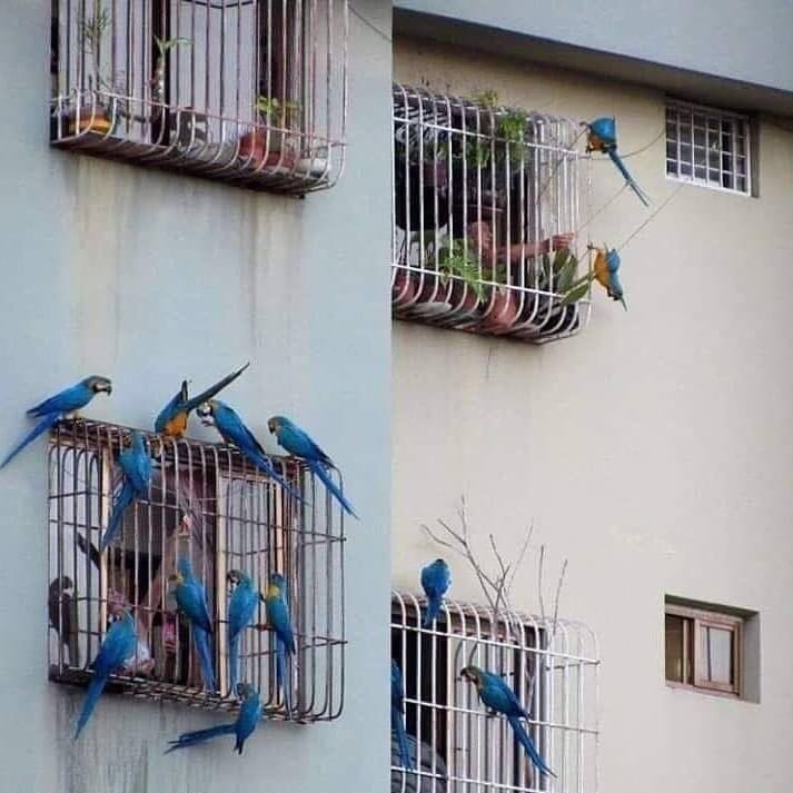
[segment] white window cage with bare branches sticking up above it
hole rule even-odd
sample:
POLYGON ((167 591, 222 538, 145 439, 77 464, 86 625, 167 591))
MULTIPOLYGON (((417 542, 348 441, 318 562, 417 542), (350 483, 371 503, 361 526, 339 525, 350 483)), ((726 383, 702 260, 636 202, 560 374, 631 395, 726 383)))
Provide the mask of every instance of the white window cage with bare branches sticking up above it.
POLYGON ((597 790, 597 640, 584 625, 447 599, 422 627, 424 598, 391 594, 391 657, 405 682, 415 769, 391 736, 391 793, 594 793, 597 790), (529 715, 524 725, 556 774, 527 761, 503 716, 490 716, 467 665, 503 675, 529 715))

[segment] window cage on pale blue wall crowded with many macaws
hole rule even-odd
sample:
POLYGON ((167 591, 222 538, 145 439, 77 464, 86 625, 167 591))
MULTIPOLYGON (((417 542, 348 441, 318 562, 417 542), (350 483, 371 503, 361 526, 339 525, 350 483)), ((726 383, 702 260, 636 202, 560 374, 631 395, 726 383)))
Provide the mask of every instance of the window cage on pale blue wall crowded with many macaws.
POLYGON ((77 419, 60 423, 50 438, 50 678, 88 683, 112 606, 122 604, 135 617, 138 645, 112 675, 111 690, 232 710, 227 573, 246 572, 266 594, 277 572, 287 581, 297 644, 286 688, 278 684, 277 640, 264 603, 242 632, 239 681, 259 690, 270 718, 337 718, 344 701, 344 516, 325 487, 294 458, 271 457, 305 494, 303 505, 228 446, 149 435, 149 493, 126 511, 118 536, 100 553, 118 478, 113 458, 129 434, 77 419), (204 686, 189 622, 169 585, 180 557, 192 562, 207 592, 214 691, 204 686))

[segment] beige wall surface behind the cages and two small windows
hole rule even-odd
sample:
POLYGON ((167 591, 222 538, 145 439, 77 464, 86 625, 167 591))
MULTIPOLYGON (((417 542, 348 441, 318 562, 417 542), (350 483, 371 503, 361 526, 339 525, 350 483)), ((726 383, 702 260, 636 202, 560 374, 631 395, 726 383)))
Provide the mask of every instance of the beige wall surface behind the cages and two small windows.
MULTIPOLYGON (((617 117, 623 150, 652 141, 663 96, 399 40, 395 76, 502 101, 617 117)), ((707 97, 701 98, 703 102, 707 97)), ((663 141, 630 160, 660 205, 663 141)), ((480 538, 569 558, 565 616, 598 634, 601 791, 790 791, 793 718, 793 135, 760 125, 760 198, 686 186, 622 252, 626 314, 602 291, 579 336, 545 347, 395 323, 394 579, 437 555, 419 522, 466 494, 480 538), (663 597, 761 613, 762 703, 673 691, 663 597)), ((593 165, 593 208, 618 187, 593 165)), ((593 236, 646 217, 627 191, 593 236)), ((537 608, 536 556, 515 593, 537 608)), ((455 593, 477 598, 455 563, 455 593)))

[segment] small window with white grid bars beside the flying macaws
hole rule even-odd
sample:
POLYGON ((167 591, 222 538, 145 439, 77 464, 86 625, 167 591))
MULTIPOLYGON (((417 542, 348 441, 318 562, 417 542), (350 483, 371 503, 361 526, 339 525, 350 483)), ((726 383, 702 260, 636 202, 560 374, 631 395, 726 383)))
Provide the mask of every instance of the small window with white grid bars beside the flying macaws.
POLYGON ((750 123, 715 108, 666 103, 666 176, 751 195, 750 123))

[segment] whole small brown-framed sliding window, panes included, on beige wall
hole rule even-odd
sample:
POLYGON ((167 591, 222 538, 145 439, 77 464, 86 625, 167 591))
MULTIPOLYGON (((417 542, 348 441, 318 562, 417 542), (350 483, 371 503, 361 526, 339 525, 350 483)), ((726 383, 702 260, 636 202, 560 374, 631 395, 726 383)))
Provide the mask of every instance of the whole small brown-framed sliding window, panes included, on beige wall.
POLYGON ((742 658, 749 617, 739 609, 666 602, 666 681, 671 685, 742 696, 742 658))

